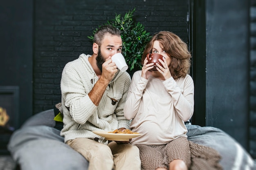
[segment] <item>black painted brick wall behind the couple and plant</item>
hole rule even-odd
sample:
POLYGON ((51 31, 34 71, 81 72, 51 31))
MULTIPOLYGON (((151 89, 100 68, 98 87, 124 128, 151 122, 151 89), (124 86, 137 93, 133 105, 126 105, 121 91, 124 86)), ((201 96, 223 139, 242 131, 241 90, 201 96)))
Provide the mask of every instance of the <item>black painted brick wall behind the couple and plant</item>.
POLYGON ((136 7, 135 22, 151 34, 173 31, 188 41, 189 0, 34 0, 33 113, 61 101, 63 67, 81 53, 92 54, 87 36, 115 13, 136 7))

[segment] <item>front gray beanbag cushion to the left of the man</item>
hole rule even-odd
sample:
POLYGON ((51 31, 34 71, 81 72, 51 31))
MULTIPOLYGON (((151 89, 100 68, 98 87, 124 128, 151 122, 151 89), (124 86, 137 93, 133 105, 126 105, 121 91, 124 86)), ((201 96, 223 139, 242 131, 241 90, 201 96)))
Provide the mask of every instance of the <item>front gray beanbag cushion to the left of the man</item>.
POLYGON ((64 144, 60 131, 33 125, 16 130, 8 150, 22 170, 87 170, 88 161, 64 144))

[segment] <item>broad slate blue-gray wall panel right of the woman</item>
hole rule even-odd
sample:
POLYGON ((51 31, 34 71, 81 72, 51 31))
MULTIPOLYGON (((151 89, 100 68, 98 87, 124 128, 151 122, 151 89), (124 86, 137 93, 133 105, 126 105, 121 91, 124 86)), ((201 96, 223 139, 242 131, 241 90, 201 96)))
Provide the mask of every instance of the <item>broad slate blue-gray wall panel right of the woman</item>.
POLYGON ((248 149, 249 0, 206 1, 206 126, 248 149))

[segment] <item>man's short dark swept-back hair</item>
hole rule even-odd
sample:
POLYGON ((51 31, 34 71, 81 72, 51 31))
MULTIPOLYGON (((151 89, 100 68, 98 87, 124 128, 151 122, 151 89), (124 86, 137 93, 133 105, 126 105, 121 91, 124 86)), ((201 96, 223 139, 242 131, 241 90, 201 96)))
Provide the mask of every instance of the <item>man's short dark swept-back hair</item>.
POLYGON ((100 26, 99 29, 94 34, 93 42, 101 46, 102 40, 107 34, 121 37, 121 31, 119 29, 115 28, 112 25, 103 25, 103 26, 100 26))

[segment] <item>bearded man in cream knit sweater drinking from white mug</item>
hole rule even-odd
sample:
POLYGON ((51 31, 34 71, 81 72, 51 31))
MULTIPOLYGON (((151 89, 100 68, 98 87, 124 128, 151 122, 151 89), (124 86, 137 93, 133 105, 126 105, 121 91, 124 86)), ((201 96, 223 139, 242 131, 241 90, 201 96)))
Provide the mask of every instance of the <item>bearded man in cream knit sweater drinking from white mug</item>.
POLYGON ((111 60, 121 53, 119 29, 101 26, 94 35, 93 54, 81 54, 66 64, 61 77, 65 143, 89 161, 88 170, 137 170, 139 150, 126 142, 107 141, 92 131, 128 129, 124 103, 130 75, 111 60))

